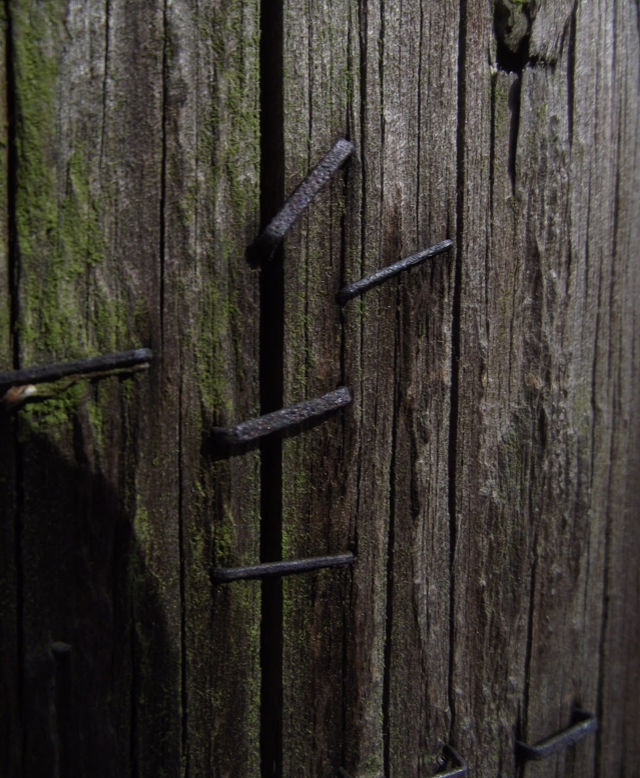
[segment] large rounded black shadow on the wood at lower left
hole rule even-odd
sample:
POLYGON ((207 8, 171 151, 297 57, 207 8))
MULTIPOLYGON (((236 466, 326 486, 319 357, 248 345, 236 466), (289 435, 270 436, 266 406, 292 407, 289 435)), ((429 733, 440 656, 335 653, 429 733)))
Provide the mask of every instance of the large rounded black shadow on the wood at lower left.
MULTIPOLYGON (((11 737, 0 773, 137 774, 140 718, 161 730, 179 705, 179 673, 167 667, 180 657, 132 517, 89 466, 78 430, 73 462, 17 416, 0 420, 0 435, 1 539, 13 557, 5 549, 0 573, 10 606, 0 614, 0 725, 11 737)), ((145 774, 167 747, 160 732, 155 754, 146 744, 145 774)))

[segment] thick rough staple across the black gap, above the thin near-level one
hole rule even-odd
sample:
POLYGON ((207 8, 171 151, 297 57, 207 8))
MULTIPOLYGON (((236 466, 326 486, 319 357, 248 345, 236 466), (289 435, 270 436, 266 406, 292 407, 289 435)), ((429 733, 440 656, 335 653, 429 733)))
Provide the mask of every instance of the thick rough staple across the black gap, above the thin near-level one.
POLYGON ((243 421, 235 427, 214 427, 212 430, 214 448, 243 447, 275 432, 301 428, 305 424, 344 408, 350 402, 351 393, 346 386, 341 386, 321 397, 304 400, 289 408, 282 408, 279 411, 243 421))

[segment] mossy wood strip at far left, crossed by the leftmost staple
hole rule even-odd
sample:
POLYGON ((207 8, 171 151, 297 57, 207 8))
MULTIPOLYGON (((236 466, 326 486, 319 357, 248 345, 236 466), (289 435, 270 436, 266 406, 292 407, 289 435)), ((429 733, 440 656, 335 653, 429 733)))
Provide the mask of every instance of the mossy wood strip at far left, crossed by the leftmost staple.
MULTIPOLYGON (((162 9, 9 13, 20 363, 159 354, 162 9)), ((162 486, 177 403, 161 365, 22 412, 25 773, 179 770, 178 501, 162 486)))

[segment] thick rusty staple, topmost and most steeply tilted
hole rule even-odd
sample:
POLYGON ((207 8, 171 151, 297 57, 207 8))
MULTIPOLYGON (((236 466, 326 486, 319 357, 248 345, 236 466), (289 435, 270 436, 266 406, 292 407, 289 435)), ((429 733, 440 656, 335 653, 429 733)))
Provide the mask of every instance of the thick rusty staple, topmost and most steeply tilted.
POLYGON ((247 249, 247 258, 252 264, 272 256, 286 232, 352 151, 353 143, 341 138, 325 154, 247 249))

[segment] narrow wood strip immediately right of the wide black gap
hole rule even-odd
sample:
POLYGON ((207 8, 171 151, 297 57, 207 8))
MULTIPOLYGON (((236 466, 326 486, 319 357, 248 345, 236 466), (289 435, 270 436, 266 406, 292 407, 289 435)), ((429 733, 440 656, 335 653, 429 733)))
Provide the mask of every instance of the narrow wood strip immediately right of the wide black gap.
MULTIPOLYGON (((347 135, 349 3, 285 3, 284 188, 289 193, 347 135)), ((341 285, 344 188, 338 170, 286 239, 283 257, 283 405, 344 383, 341 285)), ((347 407, 283 441, 283 558, 350 549, 345 505, 347 407)), ((282 774, 330 775, 342 764, 344 602, 351 570, 283 581, 282 774)))

